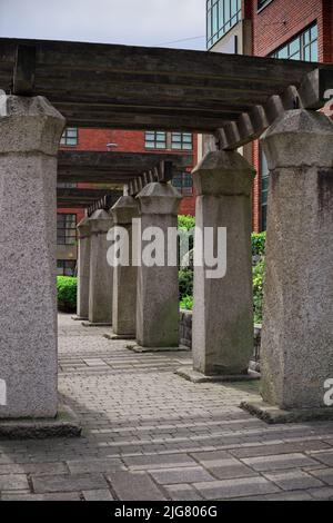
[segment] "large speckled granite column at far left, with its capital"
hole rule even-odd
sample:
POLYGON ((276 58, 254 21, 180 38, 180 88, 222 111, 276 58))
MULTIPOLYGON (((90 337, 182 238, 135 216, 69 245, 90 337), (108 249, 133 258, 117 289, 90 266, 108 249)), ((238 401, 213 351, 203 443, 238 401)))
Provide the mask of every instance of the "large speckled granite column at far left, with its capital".
POLYGON ((0 102, 0 417, 54 417, 57 152, 65 120, 42 97, 0 102))

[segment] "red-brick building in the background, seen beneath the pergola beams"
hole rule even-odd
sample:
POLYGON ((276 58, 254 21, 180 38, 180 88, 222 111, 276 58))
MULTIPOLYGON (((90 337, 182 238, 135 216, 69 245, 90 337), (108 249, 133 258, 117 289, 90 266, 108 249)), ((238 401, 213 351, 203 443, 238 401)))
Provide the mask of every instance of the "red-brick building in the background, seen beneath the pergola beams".
MULTIPOLYGON (((119 152, 174 152, 192 156, 198 161, 198 136, 188 132, 124 131, 113 129, 67 128, 61 149, 119 152)), ((174 177, 172 184, 182 194, 181 214, 194 216, 195 198, 190 167, 174 177)), ((62 185, 59 185, 63 187, 62 185)), ((94 188, 88 184, 65 184, 65 187, 94 188)), ((98 186, 97 186, 98 188, 98 186)), ((77 267, 77 225, 84 217, 83 209, 58 208, 57 259, 58 275, 73 276, 77 267)))

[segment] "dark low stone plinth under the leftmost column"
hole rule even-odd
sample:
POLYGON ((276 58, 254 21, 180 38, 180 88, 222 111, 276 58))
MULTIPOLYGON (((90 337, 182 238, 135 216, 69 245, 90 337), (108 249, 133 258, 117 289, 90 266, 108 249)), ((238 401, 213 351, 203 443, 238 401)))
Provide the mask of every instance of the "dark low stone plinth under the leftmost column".
POLYGON ((0 440, 46 440, 80 437, 82 427, 67 405, 60 405, 57 417, 40 420, 0 420, 0 440))

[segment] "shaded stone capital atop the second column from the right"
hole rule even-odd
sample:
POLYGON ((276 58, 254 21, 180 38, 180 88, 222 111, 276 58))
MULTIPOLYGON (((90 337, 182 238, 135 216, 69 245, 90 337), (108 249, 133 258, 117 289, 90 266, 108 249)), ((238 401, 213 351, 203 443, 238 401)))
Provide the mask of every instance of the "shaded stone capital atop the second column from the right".
POLYGON ((208 152, 192 171, 198 196, 250 196, 254 168, 236 151, 208 152))

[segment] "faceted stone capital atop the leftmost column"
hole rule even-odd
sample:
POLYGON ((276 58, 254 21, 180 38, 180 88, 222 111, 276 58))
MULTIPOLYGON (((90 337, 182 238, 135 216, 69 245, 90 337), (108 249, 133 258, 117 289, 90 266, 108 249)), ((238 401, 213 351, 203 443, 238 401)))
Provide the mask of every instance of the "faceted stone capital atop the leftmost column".
POLYGON ((65 119, 43 97, 0 98, 0 154, 57 156, 65 119))

